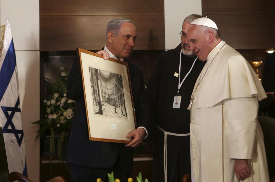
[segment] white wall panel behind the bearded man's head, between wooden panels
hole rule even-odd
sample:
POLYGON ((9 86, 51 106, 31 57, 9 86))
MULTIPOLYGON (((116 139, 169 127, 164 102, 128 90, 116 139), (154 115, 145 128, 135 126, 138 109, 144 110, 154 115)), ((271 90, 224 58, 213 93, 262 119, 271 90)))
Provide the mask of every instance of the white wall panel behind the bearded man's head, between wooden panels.
POLYGON ((164 0, 165 49, 174 49, 181 42, 180 31, 186 16, 201 15, 201 0, 164 0))

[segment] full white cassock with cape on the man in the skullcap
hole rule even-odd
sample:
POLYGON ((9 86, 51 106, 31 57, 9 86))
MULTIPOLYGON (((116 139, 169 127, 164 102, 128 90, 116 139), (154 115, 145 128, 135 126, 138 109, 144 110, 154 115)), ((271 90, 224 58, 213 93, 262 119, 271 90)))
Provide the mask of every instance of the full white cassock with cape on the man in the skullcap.
POLYGON ((269 181, 257 119, 258 100, 266 98, 259 79, 245 58, 224 41, 207 60, 188 107, 192 181, 239 181, 233 159, 248 159, 251 175, 244 181, 269 181))

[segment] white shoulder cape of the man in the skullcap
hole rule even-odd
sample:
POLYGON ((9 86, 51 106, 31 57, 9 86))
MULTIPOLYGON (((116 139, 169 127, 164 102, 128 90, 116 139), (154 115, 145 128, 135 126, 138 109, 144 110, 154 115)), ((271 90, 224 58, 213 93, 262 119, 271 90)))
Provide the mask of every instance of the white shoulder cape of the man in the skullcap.
MULTIPOLYGON (((239 52, 225 42, 213 50, 207 56, 207 60, 210 66, 205 76, 201 76, 203 78, 197 93, 197 108, 213 107, 228 98, 257 97, 258 100, 262 100, 267 97, 260 80, 250 64, 239 52), (221 49, 222 46, 223 48, 221 49), (217 54, 219 50, 220 52, 217 54), (217 56, 215 57, 216 54, 217 56)), ((197 79, 194 90, 199 78, 200 76, 197 79)), ((190 105, 188 108, 190 108, 190 105)))

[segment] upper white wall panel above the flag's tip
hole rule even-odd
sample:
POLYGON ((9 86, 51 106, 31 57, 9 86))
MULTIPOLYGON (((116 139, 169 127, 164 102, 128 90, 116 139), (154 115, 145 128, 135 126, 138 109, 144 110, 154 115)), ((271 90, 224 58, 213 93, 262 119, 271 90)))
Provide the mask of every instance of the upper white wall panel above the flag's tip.
POLYGON ((1 25, 9 18, 15 50, 39 50, 39 1, 1 0, 1 25))

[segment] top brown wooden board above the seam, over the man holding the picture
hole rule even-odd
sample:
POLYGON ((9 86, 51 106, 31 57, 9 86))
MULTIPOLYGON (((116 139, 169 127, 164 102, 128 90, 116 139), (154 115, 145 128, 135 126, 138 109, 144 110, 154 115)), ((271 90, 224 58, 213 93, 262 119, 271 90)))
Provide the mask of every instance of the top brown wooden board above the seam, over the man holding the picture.
POLYGON ((40 15, 164 15, 164 0, 40 0, 40 15))

